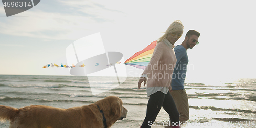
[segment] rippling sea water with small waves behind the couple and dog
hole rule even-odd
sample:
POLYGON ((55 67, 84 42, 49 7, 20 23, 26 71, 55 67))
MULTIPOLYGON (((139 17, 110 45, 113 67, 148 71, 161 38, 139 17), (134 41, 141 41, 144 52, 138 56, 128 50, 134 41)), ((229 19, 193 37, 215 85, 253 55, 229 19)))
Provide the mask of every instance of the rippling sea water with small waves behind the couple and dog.
MULTIPOLYGON (((128 77, 111 90, 112 79, 105 78, 105 82, 102 79, 95 77, 95 81, 90 82, 105 92, 92 95, 85 76, 0 75, 0 105, 71 108, 114 95, 122 99, 129 112, 127 118, 118 120, 112 127, 139 127, 145 118, 148 101, 146 88, 137 89, 139 78, 128 77)), ((185 88, 190 119, 182 127, 256 127, 256 79, 207 84, 187 81, 185 88)), ((168 121, 168 114, 161 109, 152 127, 164 127, 168 121)), ((0 123, 1 128, 8 126, 8 121, 0 123)))

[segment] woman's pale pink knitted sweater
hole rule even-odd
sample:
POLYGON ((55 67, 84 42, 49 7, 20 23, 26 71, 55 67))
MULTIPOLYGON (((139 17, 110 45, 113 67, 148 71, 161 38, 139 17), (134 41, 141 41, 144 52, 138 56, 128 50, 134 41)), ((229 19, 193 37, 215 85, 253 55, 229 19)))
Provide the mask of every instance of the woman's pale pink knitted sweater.
POLYGON ((163 41, 159 42, 150 63, 142 73, 147 75, 147 87, 170 87, 176 61, 174 49, 163 41))

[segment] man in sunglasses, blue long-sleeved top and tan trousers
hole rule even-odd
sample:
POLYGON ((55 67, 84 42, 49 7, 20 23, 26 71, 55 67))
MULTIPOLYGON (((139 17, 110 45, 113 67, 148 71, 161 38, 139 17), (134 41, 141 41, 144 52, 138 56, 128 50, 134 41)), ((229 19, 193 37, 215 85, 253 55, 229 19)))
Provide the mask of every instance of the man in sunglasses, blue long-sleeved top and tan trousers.
POLYGON ((174 48, 175 56, 177 59, 175 69, 172 77, 172 95, 174 102, 180 113, 180 123, 185 123, 189 119, 189 105, 188 96, 184 87, 184 81, 186 78, 188 56, 187 49, 192 49, 197 45, 200 33, 195 30, 189 30, 186 34, 185 40, 181 45, 177 45, 174 48))

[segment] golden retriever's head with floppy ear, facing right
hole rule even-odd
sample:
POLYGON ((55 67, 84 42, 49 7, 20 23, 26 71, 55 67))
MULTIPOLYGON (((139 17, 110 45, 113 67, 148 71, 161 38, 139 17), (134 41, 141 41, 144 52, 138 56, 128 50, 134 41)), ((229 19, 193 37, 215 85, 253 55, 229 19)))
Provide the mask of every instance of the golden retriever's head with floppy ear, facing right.
POLYGON ((116 96, 108 96, 95 102, 103 110, 106 119, 110 121, 122 120, 126 118, 127 109, 123 107, 123 102, 116 96))

